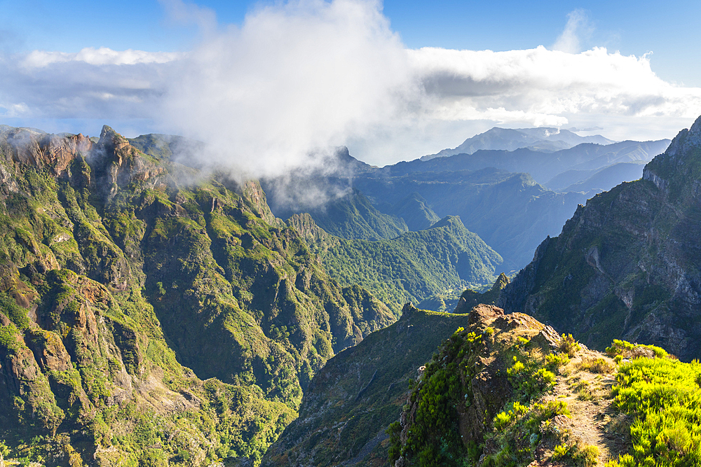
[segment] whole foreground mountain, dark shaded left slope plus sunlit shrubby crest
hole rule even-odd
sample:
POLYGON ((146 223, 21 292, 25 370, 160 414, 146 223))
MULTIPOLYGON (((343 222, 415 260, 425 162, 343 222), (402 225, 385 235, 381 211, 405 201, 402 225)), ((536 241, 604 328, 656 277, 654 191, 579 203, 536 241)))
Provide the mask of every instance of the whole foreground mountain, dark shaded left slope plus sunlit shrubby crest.
POLYGON ((698 432, 695 368, 625 341, 600 354, 494 306, 407 305, 318 372, 262 465, 681 465, 701 447, 659 440, 698 432))

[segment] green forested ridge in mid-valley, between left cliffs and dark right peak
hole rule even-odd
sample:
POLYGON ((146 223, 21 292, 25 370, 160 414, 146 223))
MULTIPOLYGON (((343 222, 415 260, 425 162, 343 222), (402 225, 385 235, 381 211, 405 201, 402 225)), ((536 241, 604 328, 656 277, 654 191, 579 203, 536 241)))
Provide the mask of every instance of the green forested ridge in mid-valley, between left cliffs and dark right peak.
POLYGON ((489 282, 502 263, 454 216, 426 230, 374 242, 329 235, 310 214, 295 214, 287 224, 301 233, 330 277, 344 286, 367 288, 397 314, 406 302, 489 282))

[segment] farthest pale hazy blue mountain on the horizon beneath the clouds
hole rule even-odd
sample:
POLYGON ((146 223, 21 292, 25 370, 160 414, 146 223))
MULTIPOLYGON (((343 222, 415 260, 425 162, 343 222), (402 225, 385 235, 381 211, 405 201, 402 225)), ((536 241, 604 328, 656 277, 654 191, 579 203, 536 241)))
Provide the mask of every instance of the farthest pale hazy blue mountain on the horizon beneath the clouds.
POLYGON ((444 149, 437 154, 424 155, 421 160, 444 158, 456 154, 472 154, 480 149, 496 149, 514 151, 519 148, 533 147, 537 151, 549 152, 571 148, 582 143, 611 144, 613 141, 600 134, 590 137, 580 137, 569 130, 558 128, 499 128, 494 127, 472 138, 465 139, 463 144, 453 149, 444 149))

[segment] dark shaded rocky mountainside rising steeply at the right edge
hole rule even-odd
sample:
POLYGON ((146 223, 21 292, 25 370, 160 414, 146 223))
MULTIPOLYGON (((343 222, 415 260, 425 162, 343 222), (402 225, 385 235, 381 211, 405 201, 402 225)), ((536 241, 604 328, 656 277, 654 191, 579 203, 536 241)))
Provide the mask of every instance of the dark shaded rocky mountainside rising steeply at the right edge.
POLYGON ((499 300, 602 349, 613 338, 701 356, 701 118, 643 179, 580 206, 499 300))

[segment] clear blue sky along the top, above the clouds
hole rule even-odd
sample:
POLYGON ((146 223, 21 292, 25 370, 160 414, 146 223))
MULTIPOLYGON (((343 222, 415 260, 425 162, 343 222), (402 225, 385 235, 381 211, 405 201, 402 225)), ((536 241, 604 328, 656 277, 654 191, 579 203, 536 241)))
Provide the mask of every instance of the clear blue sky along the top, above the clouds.
MULTIPOLYGON (((199 1, 222 24, 240 25, 252 8, 274 2, 199 1)), ((512 50, 550 46, 566 15, 583 9, 592 33, 587 46, 624 55, 653 52, 658 76, 701 86, 701 2, 699 1, 416 1, 390 0, 383 12, 409 48, 426 46, 512 50)), ((0 0, 0 44, 9 50, 85 47, 114 50, 186 50, 193 27, 165 18, 158 1, 0 0)))

